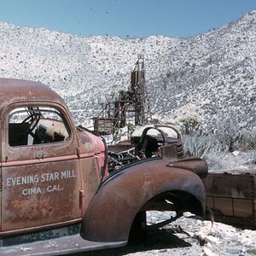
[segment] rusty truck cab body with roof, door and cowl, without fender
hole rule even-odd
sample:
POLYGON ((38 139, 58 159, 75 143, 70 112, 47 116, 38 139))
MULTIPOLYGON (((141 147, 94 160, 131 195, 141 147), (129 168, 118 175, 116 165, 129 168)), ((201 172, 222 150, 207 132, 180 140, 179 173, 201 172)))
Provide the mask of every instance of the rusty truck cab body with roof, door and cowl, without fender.
MULTIPOLYGON (((0 86, 0 236, 81 222, 102 179, 106 158, 102 139, 77 131, 65 102, 47 86, 15 79, 0 79, 0 86), (35 113, 44 106, 61 113, 69 137, 60 142, 11 145, 8 124, 12 110, 28 108, 28 113, 35 113)), ((55 131, 60 131, 57 122, 55 131)), ((49 136, 53 137, 54 120, 50 125, 49 136)))

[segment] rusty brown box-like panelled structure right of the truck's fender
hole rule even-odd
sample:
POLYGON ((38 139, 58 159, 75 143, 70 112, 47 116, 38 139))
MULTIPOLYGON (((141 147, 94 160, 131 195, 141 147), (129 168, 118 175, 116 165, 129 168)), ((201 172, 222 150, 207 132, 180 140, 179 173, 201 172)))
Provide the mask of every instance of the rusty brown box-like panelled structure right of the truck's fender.
POLYGON ((203 183, 216 221, 256 228, 256 170, 209 172, 203 183))

